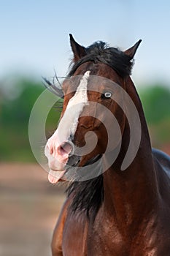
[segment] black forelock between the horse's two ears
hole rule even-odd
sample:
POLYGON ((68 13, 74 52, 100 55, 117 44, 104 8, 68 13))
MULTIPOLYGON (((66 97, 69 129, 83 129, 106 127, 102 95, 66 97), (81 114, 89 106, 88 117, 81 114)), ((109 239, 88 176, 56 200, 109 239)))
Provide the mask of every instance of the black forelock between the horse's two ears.
POLYGON ((92 61, 93 63, 107 64, 117 72, 121 78, 131 75, 131 69, 134 61, 127 56, 123 51, 117 48, 110 48, 106 42, 94 42, 88 48, 85 48, 86 55, 82 59, 76 61, 69 71, 69 76, 74 75, 74 72, 80 65, 85 62, 92 61))

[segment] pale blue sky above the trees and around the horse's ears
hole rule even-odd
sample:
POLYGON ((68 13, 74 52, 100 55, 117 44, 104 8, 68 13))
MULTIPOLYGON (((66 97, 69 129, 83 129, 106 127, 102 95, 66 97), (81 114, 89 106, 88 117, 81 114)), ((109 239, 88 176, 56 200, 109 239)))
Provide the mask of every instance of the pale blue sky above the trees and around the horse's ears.
POLYGON ((123 50, 142 39, 132 77, 170 84, 170 1, 0 0, 0 79, 10 73, 65 75, 72 52, 96 40, 123 50))

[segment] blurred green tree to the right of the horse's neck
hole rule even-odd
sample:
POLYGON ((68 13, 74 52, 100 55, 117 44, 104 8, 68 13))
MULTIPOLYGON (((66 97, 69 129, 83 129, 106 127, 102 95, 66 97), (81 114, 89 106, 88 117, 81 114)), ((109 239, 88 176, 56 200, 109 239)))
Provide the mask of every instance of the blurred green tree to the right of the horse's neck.
MULTIPOLYGON (((170 145, 170 90, 155 84, 144 86, 139 93, 150 130, 152 146, 170 145)), ((170 147, 169 147, 170 148, 170 147)))

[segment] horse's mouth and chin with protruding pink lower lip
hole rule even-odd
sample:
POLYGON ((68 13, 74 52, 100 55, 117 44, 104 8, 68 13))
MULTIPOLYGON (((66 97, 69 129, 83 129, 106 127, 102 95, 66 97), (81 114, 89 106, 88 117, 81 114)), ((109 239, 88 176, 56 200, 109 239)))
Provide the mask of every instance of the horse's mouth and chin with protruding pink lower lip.
POLYGON ((58 181, 81 181, 82 177, 88 176, 88 172, 92 172, 95 169, 95 164, 101 157, 102 154, 98 154, 85 162, 84 165, 80 166, 81 157, 72 155, 69 157, 64 170, 50 170, 48 180, 52 184, 58 181), (90 166, 93 167, 90 168, 90 166))

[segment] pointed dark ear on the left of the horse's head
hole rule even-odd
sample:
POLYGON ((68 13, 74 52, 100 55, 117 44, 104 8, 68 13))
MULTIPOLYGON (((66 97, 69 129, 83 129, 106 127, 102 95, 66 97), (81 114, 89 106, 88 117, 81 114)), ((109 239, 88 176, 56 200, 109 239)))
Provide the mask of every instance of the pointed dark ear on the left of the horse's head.
POLYGON ((86 55, 85 47, 79 45, 73 38, 72 34, 69 34, 70 37, 70 45, 72 47, 72 51, 74 53, 74 61, 78 61, 82 57, 86 55))

